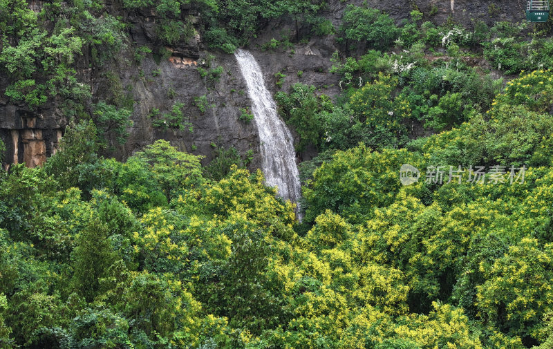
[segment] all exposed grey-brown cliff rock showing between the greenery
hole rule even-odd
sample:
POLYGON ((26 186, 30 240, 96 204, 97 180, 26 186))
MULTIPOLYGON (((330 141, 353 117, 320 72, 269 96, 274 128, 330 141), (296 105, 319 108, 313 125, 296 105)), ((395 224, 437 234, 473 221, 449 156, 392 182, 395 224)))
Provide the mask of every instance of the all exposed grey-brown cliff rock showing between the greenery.
MULTIPOLYGON (((328 10, 324 13, 339 26, 344 9, 351 1, 330 0, 328 10)), ((362 0, 353 1, 361 4, 362 0)), ((481 19, 488 23, 493 21, 519 21, 524 15, 524 1, 473 1, 473 0, 399 0, 399 1, 368 1, 371 6, 388 12, 397 21, 409 16, 409 12, 418 8, 424 13, 424 19, 443 23, 453 20, 470 27, 471 19, 481 19)), ((37 10, 40 1, 31 4, 37 10)), ((118 9, 114 8, 114 12, 118 9)), ((129 46, 149 45, 156 40, 153 22, 156 20, 149 13, 124 14, 132 23, 130 28, 129 46)), ((190 15, 188 13, 187 15, 190 15)), ((193 15, 193 14, 192 14, 193 15)), ((339 93, 339 80, 329 74, 330 55, 339 47, 332 37, 315 37, 308 43, 297 44, 294 53, 290 50, 263 51, 259 47, 272 37, 279 38, 279 32, 292 32, 294 25, 291 20, 281 19, 270 23, 261 35, 257 37, 250 50, 259 62, 267 86, 272 92, 278 90, 275 73, 285 74, 283 90, 294 82, 313 84, 327 95, 339 93), (297 71, 303 71, 298 77, 297 71)), ((120 160, 129 157, 133 152, 151 144, 156 139, 166 139, 181 150, 198 155, 205 155, 204 163, 213 157, 213 145, 235 147, 240 153, 254 151, 254 160, 250 169, 260 167, 259 138, 255 125, 238 120, 241 109, 251 106, 251 101, 245 93, 245 82, 239 72, 233 55, 205 50, 199 35, 187 42, 182 42, 169 48, 171 57, 157 63, 153 57, 144 57, 140 66, 133 64, 131 50, 122 52, 122 57, 113 66, 89 68, 89 57, 84 55, 77 62, 79 79, 89 84, 93 100, 103 100, 113 97, 113 93, 124 95, 133 100, 133 126, 129 129, 131 135, 124 145, 113 143, 109 155, 120 160), (128 56, 128 57, 126 57, 128 56), (214 56, 209 57, 209 56, 214 56), (223 67, 223 73, 218 81, 201 77, 198 67, 205 67, 210 59, 212 67, 223 67), (205 111, 201 111, 198 97, 205 96, 205 111), (153 109, 167 112, 175 102, 185 105, 185 119, 193 125, 193 131, 163 130, 153 127, 149 114, 153 109)), ((0 91, 6 89, 6 79, 0 77, 0 91)), ((10 104, 8 98, 0 94, 0 138, 6 144, 4 166, 9 163, 26 162, 27 166, 35 167, 44 163, 46 158, 55 153, 59 139, 68 123, 59 116, 56 105, 51 104, 38 111, 30 111, 24 107, 10 104)), ((293 130, 292 130, 293 132, 293 130)), ((303 159, 310 158, 309 151, 300 154, 303 159)))

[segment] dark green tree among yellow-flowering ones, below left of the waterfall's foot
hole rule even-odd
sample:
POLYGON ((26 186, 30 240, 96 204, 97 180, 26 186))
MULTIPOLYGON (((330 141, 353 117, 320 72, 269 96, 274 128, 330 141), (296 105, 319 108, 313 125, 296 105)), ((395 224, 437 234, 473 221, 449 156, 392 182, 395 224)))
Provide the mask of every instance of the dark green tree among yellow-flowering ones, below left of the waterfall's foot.
POLYGON ((212 274, 204 274, 207 287, 200 299, 209 312, 229 318, 233 327, 260 334, 278 326, 285 308, 281 290, 268 277, 272 238, 243 218, 232 218, 222 228, 232 240, 232 252, 222 265, 212 265, 218 266, 212 274))

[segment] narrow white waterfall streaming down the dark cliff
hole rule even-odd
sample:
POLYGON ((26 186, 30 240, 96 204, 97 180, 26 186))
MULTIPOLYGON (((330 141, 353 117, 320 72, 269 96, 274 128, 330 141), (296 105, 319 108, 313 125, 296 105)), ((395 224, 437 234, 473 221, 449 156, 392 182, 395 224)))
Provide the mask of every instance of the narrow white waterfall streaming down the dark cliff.
MULTIPOLYGON (((277 113, 277 104, 267 87, 259 64, 247 50, 234 53, 247 84, 247 94, 252 100, 254 122, 261 141, 262 169, 267 185, 277 187, 279 196, 298 202, 301 195, 299 171, 292 133, 277 113)), ((299 209, 296 209, 297 217, 299 209)))

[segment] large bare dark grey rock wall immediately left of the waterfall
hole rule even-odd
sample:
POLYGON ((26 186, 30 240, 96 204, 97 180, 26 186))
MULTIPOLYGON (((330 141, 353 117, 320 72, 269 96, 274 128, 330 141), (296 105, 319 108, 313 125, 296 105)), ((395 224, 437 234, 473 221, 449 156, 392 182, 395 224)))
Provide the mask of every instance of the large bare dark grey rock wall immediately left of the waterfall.
MULTIPOLYGON (((126 86, 128 97, 135 101, 135 105, 133 126, 129 130, 131 135, 123 146, 115 148, 115 158, 124 159, 160 138, 169 140, 181 150, 205 155, 205 163, 212 158, 213 145, 234 146, 242 154, 248 149, 259 148, 254 124, 238 119, 241 109, 250 108, 250 100, 234 57, 218 55, 212 59, 212 67, 223 67, 218 81, 200 76, 197 68, 205 66, 204 62, 203 57, 184 57, 174 52, 159 65, 152 58, 146 58, 140 68, 120 67, 120 82, 126 86), (196 102, 203 96, 205 102, 196 102), (182 111, 185 120, 192 124, 192 131, 163 130, 152 126, 151 111, 170 111, 175 102, 185 105, 182 111)), ((93 88, 99 94, 103 86, 102 79, 93 82, 93 88)), ((259 161, 258 158, 255 160, 259 161)), ((256 161, 252 166, 259 166, 256 161)))

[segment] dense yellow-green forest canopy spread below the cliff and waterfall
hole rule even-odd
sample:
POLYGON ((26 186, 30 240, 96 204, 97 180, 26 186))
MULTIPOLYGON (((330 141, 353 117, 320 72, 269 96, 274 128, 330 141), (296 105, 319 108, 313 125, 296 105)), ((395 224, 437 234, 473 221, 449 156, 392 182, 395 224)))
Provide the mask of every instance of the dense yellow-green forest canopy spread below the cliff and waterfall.
POLYGON ((73 124, 44 167, 1 173, 2 346, 547 343, 550 116, 507 88, 495 101, 491 117, 407 149, 337 151, 304 187, 301 225, 261 171, 234 165, 212 180, 198 157, 162 140, 118 162, 95 155, 93 123, 73 124), (496 140, 516 140, 520 130, 504 124, 517 118, 534 120, 527 133, 538 136, 500 151, 496 140), (398 175, 404 163, 529 159, 523 182, 465 173, 461 184, 402 186, 398 175))

